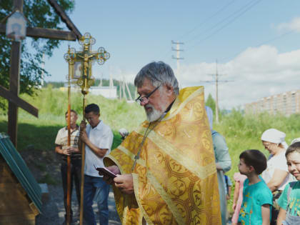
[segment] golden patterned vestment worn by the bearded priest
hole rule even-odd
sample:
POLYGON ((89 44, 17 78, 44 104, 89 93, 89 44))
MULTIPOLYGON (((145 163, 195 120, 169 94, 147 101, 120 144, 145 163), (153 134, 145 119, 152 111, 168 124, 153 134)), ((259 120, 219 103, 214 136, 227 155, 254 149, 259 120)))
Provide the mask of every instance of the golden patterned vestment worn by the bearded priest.
POLYGON ((104 158, 106 166, 116 164, 121 174, 133 175, 134 194, 114 187, 122 224, 141 224, 143 217, 149 225, 221 224, 203 86, 182 89, 164 118, 148 126, 144 121, 104 158))

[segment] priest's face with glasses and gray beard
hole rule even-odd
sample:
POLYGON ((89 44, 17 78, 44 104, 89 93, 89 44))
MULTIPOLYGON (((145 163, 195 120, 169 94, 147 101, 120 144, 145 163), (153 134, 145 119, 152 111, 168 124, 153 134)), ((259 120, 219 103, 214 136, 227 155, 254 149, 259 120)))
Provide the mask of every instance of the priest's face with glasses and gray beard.
POLYGON ((143 85, 137 88, 137 92, 142 99, 140 104, 144 106, 149 122, 159 119, 169 106, 166 91, 166 86, 164 85, 156 89, 156 86, 153 86, 149 79, 144 79, 143 85), (152 91, 154 92, 151 94, 152 91), (151 95, 149 96, 149 94, 151 95))

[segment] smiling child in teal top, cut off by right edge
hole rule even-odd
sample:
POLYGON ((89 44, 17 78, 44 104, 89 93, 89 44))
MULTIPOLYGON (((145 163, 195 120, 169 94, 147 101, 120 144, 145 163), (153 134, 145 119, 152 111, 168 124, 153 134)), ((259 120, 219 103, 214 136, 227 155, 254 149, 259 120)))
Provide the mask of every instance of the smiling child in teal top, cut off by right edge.
POLYGON ((300 142, 291 144, 286 150, 286 161, 289 172, 297 181, 287 184, 278 199, 280 211, 277 224, 300 224, 300 142))

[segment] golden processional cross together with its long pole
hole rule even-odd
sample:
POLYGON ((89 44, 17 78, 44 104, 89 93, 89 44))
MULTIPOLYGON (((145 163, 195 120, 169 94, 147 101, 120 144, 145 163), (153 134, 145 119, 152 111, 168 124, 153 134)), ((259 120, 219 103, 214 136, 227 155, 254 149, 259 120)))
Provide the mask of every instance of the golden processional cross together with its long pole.
MULTIPOLYGON (((73 83, 81 87, 81 93, 84 95, 83 99, 83 115, 85 120, 86 108, 86 94, 89 94, 89 87, 94 84, 94 77, 91 73, 92 61, 98 61, 98 64, 103 65, 104 62, 109 59, 110 54, 100 47, 98 51, 91 51, 91 45, 95 44, 96 40, 91 34, 86 33, 79 39, 79 44, 82 46, 82 51, 76 51, 75 49, 68 49, 68 52, 64 54, 64 59, 69 63, 69 77, 73 80, 73 83), (74 64, 81 64, 81 76, 76 76, 74 70, 74 64)), ((85 132, 85 131, 83 131, 85 132)), ((80 200, 80 225, 84 221, 84 164, 85 164, 85 145, 81 142, 81 200, 80 200)))

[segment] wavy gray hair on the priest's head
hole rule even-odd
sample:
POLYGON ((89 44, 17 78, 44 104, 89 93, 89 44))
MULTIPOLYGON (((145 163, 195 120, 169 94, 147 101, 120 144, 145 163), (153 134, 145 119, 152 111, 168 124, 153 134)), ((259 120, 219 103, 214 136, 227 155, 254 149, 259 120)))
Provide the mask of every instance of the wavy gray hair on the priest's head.
POLYGON ((169 84, 174 89, 174 94, 179 95, 179 84, 174 75, 171 66, 165 64, 163 61, 154 61, 146 64, 134 79, 134 86, 141 87, 144 79, 147 78, 151 81, 153 86, 169 84))

